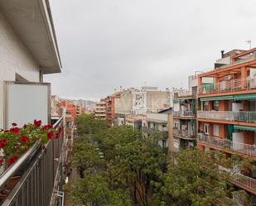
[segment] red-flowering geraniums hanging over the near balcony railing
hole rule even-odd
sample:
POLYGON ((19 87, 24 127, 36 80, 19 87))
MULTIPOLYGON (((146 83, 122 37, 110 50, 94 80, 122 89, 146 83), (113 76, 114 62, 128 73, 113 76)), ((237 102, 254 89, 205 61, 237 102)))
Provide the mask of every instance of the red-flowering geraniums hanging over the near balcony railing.
POLYGON ((41 120, 34 120, 23 127, 17 127, 12 123, 12 128, 0 132, 0 165, 12 165, 22 154, 24 154, 36 141, 39 141, 43 150, 46 150, 46 143, 60 137, 61 129, 53 129, 51 125, 41 126, 41 120))

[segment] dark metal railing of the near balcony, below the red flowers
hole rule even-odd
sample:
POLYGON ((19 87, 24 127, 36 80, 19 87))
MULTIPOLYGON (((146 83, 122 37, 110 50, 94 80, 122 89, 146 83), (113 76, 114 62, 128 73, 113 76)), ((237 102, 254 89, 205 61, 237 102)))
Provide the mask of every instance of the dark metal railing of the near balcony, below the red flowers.
MULTIPOLYGON (((56 122, 54 128, 63 126, 63 117, 56 122)), ((61 153, 64 142, 64 130, 60 132, 60 138, 48 141, 46 151, 41 150, 36 143, 15 164, 0 176, 0 188, 4 189, 13 176, 18 181, 14 188, 2 199, 2 206, 48 206, 51 205, 56 176, 62 170, 61 153)), ((60 183, 62 180, 60 180, 60 183)), ((59 204, 61 205, 61 204, 59 204)))

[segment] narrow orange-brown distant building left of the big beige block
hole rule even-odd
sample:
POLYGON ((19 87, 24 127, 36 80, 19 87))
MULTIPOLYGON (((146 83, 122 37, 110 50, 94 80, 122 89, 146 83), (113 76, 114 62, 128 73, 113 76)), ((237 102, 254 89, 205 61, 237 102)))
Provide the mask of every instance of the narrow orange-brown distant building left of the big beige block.
POLYGON ((115 99, 120 98, 120 93, 114 93, 104 99, 106 103, 106 123, 107 127, 114 125, 115 99))

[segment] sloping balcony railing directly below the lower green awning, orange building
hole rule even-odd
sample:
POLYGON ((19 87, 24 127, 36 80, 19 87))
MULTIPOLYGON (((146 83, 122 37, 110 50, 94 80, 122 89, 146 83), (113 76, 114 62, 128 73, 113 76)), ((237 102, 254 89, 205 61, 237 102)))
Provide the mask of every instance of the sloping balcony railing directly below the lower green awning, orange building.
POLYGON ((220 149, 228 149, 247 156, 256 156, 256 145, 244 144, 238 141, 230 141, 228 139, 221 139, 218 137, 209 137, 205 134, 198 134, 198 142, 203 142, 209 146, 216 146, 220 149))

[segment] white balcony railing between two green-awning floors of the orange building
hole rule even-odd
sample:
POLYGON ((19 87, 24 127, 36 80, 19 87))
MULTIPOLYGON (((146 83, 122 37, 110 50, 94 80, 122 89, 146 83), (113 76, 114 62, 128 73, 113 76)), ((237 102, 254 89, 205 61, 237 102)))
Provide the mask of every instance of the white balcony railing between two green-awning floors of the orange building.
POLYGON ((197 117, 218 121, 256 122, 256 112, 198 111, 197 117))

